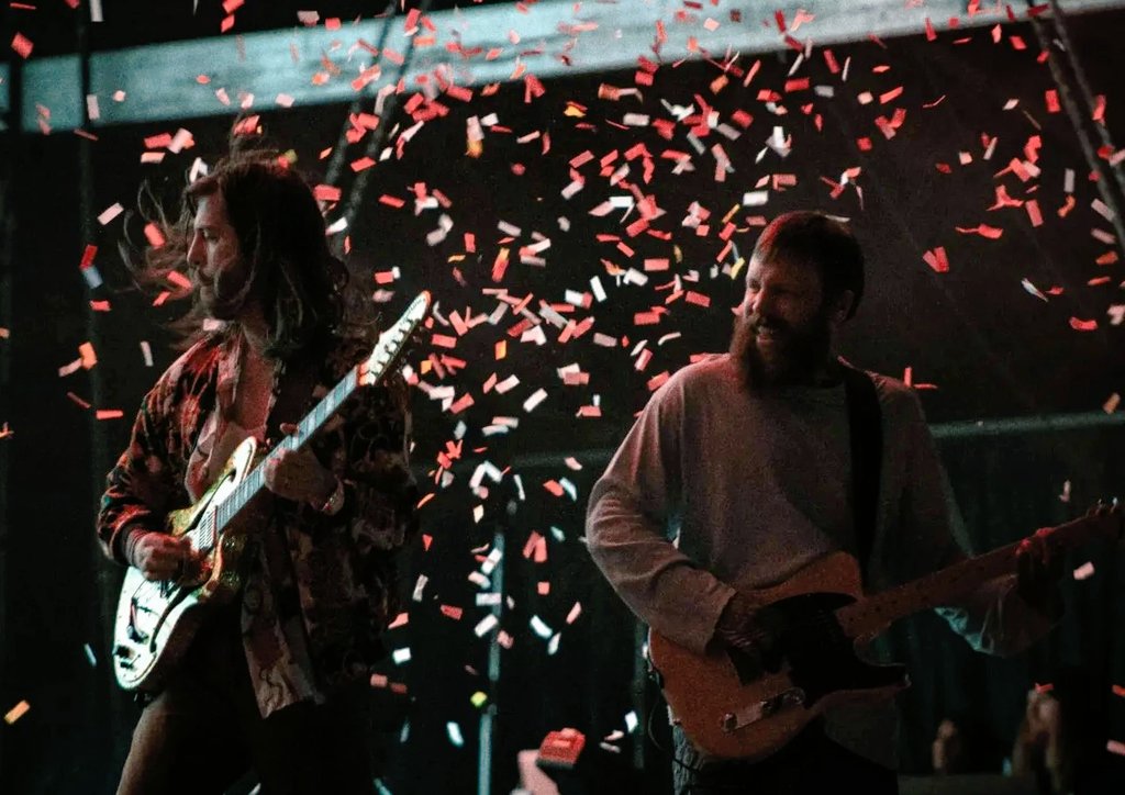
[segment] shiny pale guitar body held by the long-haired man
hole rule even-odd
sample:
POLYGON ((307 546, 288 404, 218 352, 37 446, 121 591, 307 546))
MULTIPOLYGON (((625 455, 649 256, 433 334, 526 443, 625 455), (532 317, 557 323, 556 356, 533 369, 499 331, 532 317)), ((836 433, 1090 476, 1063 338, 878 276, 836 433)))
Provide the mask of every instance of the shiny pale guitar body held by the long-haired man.
POLYGON ((258 442, 244 440, 195 505, 168 515, 166 530, 204 553, 198 572, 172 581, 147 580, 129 567, 114 622, 114 674, 126 690, 155 690, 195 636, 207 608, 230 603, 242 588, 248 535, 240 524, 216 531, 216 507, 245 480, 258 442))

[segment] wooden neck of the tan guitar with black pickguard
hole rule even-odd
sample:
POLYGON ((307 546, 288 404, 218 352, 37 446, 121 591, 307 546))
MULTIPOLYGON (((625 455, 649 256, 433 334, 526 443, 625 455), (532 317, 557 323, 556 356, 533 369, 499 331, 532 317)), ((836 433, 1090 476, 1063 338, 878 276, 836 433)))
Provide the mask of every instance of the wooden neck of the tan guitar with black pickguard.
MULTIPOLYGON (((1097 534, 1098 523, 1082 517, 1053 529, 1053 537, 1070 546, 1097 534)), ((920 579, 884 590, 836 611, 840 627, 849 638, 878 634, 889 624, 924 609, 950 605, 983 582, 1016 571, 1020 542, 1001 546, 976 558, 962 560, 920 579)))

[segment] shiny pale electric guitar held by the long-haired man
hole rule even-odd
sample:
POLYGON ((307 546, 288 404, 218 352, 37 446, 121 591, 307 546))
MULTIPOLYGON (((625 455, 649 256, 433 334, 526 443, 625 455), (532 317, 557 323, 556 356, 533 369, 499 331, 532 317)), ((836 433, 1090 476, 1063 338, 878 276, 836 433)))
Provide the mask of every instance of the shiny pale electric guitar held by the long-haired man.
POLYGON ((392 372, 429 310, 430 293, 423 291, 379 336, 371 354, 349 370, 300 421, 295 435, 285 437, 267 455, 260 454, 254 437, 246 439, 195 505, 168 515, 168 532, 189 537, 204 553, 204 563, 198 575, 176 581, 146 580, 133 567, 126 572, 117 603, 112 654, 114 672, 123 688, 158 688, 187 649, 208 607, 231 602, 242 588, 243 558, 254 532, 253 514, 261 505, 255 498, 266 494, 263 464, 269 457, 281 449, 300 448, 358 387, 376 385, 392 372))

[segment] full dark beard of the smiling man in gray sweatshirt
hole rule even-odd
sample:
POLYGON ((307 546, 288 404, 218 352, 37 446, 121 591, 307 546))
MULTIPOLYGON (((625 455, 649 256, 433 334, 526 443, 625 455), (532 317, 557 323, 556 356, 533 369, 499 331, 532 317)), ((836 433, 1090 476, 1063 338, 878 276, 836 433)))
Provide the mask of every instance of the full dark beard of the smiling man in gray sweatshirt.
POLYGON ((744 369, 750 385, 781 387, 811 383, 830 351, 831 328, 825 311, 802 326, 758 314, 735 317, 730 354, 744 369), (759 345, 760 329, 772 332, 768 345, 759 345))

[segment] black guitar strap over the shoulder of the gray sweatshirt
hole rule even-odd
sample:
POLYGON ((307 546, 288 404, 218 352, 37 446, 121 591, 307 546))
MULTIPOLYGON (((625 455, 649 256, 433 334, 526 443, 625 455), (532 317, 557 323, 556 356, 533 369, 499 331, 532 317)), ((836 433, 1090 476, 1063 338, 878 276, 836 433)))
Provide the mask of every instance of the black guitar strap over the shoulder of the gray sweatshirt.
POLYGON ((856 558, 864 581, 875 536, 879 482, 883 463, 883 421, 875 383, 863 370, 844 367, 848 435, 852 446, 852 508, 856 558))

